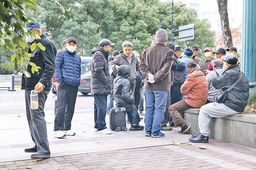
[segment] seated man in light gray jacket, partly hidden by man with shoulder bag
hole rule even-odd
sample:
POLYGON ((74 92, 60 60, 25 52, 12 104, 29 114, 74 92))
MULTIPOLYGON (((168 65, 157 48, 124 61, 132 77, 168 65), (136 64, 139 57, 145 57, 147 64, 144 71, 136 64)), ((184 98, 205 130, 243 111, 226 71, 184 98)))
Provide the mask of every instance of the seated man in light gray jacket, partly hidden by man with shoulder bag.
POLYGON ((207 96, 207 103, 213 102, 213 98, 216 94, 218 94, 220 92, 220 89, 215 89, 212 86, 212 80, 215 77, 219 77, 220 75, 222 75, 223 73, 223 61, 222 59, 216 59, 214 60, 213 63, 213 69, 214 71, 208 73, 206 75, 206 80, 208 82, 208 96, 207 96))

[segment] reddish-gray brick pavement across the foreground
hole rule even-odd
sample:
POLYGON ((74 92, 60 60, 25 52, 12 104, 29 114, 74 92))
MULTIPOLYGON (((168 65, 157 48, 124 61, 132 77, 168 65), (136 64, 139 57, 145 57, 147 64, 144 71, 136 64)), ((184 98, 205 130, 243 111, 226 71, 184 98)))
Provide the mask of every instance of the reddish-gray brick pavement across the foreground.
MULTIPOLYGON (((157 139, 156 139, 157 140, 157 139)), ((0 170, 251 170, 256 169, 256 149, 210 141, 93 152, 0 163, 0 170), (199 146, 207 149, 200 149, 199 146)))

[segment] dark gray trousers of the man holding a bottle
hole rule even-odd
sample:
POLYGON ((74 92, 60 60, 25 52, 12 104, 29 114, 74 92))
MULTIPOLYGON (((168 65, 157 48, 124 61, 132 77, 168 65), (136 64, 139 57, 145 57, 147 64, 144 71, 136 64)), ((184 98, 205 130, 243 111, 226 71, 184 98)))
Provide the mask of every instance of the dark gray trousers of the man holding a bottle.
POLYGON ((50 90, 43 90, 38 93, 38 109, 34 110, 30 108, 30 93, 32 89, 25 90, 26 101, 26 118, 29 123, 29 130, 33 142, 34 148, 37 152, 50 154, 49 142, 47 138, 47 128, 45 122, 45 100, 50 90))

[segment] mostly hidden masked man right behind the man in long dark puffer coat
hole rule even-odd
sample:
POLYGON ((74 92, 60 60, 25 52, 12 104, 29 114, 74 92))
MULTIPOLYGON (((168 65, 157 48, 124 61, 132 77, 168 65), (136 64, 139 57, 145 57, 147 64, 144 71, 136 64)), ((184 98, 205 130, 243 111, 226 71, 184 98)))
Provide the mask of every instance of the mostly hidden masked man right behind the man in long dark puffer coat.
MULTIPOLYGON (((113 59, 114 58, 116 58, 116 56, 117 55, 120 55, 120 52, 119 51, 113 51, 112 52, 112 56, 109 56, 108 57, 108 64, 110 63, 110 62, 112 62, 113 61, 113 59)), ((114 89, 114 86, 113 86, 113 81, 114 81, 114 79, 116 78, 116 74, 117 74, 117 71, 116 71, 116 69, 110 69, 110 72, 112 72, 111 73, 111 75, 110 75, 110 77, 109 77, 109 82, 110 82, 110 91, 111 91, 111 93, 110 93, 110 95, 108 95, 108 104, 107 104, 107 114, 109 114, 110 113, 110 109, 111 108, 113 108, 114 107, 114 91, 113 91, 113 89, 114 89)))

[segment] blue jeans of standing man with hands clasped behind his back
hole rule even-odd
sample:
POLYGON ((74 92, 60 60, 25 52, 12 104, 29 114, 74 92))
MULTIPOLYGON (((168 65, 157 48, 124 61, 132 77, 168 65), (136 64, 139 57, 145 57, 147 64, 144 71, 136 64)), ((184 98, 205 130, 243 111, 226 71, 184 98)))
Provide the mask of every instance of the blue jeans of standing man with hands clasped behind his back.
POLYGON ((166 108, 167 91, 145 89, 145 131, 156 136, 160 133, 166 108), (155 115, 154 115, 155 111, 155 115))

